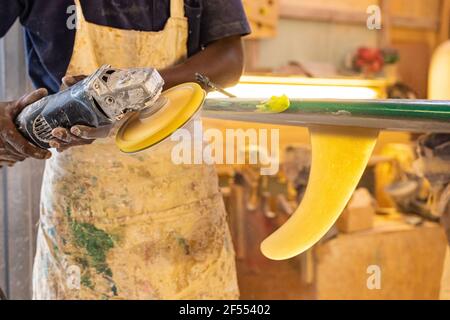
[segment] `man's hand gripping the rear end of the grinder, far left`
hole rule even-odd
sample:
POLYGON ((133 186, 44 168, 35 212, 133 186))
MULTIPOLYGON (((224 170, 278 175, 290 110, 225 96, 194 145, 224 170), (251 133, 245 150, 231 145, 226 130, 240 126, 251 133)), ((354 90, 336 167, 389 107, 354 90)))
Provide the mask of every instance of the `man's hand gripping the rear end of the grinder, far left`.
POLYGON ((48 159, 51 153, 25 139, 17 130, 14 120, 25 107, 47 95, 47 90, 39 89, 17 101, 0 102, 0 167, 13 166, 16 162, 32 157, 48 159))

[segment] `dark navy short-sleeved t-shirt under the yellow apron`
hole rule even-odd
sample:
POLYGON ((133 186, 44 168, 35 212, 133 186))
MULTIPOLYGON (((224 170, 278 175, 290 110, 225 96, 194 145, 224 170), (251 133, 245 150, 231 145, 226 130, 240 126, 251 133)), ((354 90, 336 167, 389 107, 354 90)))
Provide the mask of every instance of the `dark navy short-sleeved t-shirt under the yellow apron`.
MULTIPOLYGON (((189 55, 215 40, 250 32, 241 0, 184 3, 189 55)), ((29 74, 36 87, 50 92, 59 89, 75 40, 76 30, 70 28, 73 6, 73 0, 0 0, 0 38, 19 17, 25 30, 29 74)), ((81 0, 81 6, 87 21, 126 30, 160 31, 170 16, 170 0, 81 0)))

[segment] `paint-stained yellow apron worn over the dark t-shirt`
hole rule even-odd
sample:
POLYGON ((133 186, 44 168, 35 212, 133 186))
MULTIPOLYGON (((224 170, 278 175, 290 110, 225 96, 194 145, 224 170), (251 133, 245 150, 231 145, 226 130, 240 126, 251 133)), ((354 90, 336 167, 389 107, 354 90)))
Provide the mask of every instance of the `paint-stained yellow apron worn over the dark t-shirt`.
MULTIPOLYGON (((68 74, 185 59, 183 0, 160 32, 84 19, 68 74)), ((35 299, 235 299, 234 251, 212 166, 174 165, 166 140, 135 154, 112 139, 53 153, 41 194, 35 299)))

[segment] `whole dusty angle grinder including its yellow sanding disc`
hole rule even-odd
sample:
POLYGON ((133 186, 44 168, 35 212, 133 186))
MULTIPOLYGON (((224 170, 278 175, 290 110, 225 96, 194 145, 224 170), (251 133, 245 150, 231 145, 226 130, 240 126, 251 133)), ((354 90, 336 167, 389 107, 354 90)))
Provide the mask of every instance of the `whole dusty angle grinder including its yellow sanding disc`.
POLYGON ((116 144, 138 152, 169 137, 201 108, 205 92, 185 83, 162 92, 164 80, 152 68, 115 69, 104 65, 89 77, 26 107, 16 118, 18 130, 32 143, 50 148, 52 130, 74 125, 101 127, 121 120, 116 144))

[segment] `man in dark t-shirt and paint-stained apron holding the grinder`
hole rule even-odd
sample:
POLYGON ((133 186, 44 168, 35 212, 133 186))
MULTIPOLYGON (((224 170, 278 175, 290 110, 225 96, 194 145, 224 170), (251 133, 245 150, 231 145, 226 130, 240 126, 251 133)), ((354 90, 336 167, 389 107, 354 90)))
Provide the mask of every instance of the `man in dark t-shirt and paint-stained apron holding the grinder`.
MULTIPOLYGON (((71 85, 102 64, 155 67, 166 89, 195 81, 196 72, 231 85, 242 73, 241 36, 250 32, 240 0, 11 0, 2 3, 0 37, 18 17, 31 80, 50 93, 64 76, 71 85)), ((0 106, 5 164, 49 156, 12 127, 43 95, 0 106)), ((90 144, 97 136, 72 129, 79 130, 53 132, 52 146, 66 151, 53 151, 44 173, 34 298, 237 298, 214 169, 172 164, 165 142, 125 155, 110 138, 90 144)))

